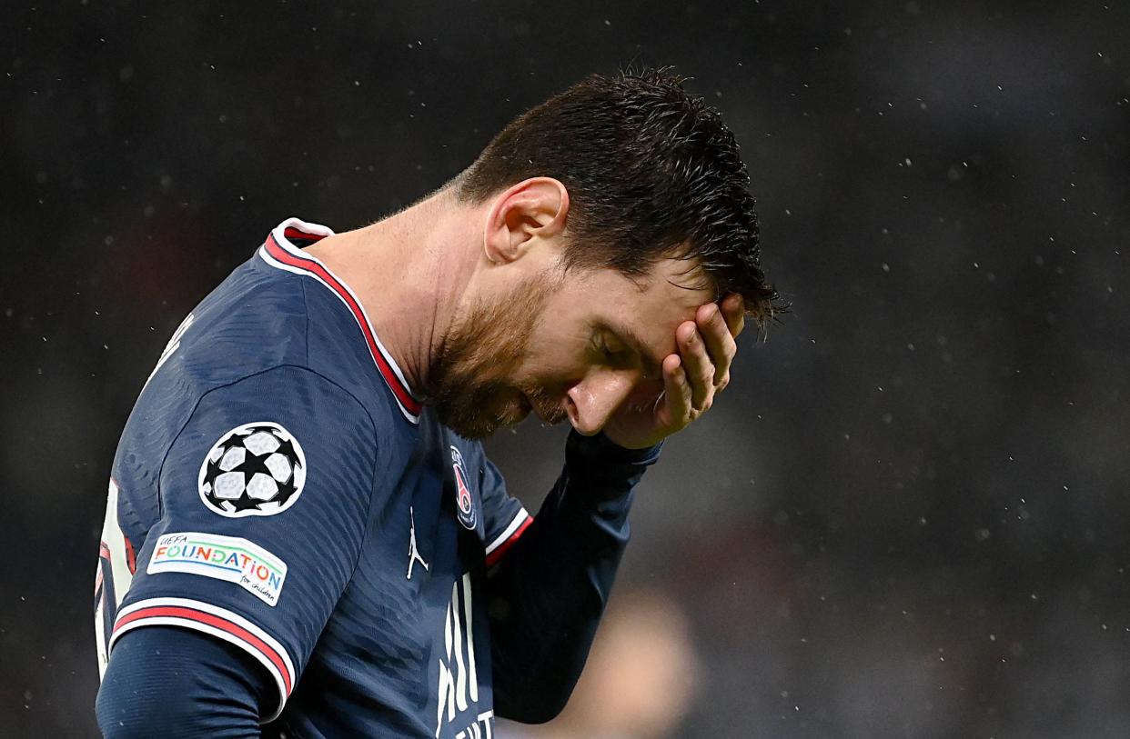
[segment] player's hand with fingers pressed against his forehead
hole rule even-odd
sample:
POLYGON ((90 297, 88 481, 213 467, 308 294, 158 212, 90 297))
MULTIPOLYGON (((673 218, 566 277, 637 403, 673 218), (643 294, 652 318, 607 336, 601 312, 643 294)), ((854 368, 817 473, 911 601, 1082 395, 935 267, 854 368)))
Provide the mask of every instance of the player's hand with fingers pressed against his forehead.
POLYGON ((729 294, 699 306, 694 320, 675 331, 677 354, 663 359, 663 392, 629 397, 605 426, 605 436, 628 449, 653 447, 710 410, 730 384, 734 338, 745 327, 745 302, 729 294))

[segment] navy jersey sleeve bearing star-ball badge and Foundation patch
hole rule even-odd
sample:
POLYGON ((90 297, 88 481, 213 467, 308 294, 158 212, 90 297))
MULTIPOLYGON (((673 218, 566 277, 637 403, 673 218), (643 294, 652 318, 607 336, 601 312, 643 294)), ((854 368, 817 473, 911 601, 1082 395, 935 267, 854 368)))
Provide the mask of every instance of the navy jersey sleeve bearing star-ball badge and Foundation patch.
POLYGON ((174 625, 238 646, 282 711, 356 568, 373 504, 376 433, 315 372, 280 367, 205 394, 159 474, 159 518, 111 637, 174 625))

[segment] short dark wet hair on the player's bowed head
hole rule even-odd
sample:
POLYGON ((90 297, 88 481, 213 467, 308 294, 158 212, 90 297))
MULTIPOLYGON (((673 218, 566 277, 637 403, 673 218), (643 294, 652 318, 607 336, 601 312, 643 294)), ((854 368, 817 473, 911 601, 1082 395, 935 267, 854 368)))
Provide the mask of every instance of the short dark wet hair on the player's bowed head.
POLYGON ((570 193, 565 267, 640 278, 661 257, 701 266, 765 328, 788 308, 760 266, 749 174, 718 111, 670 68, 592 74, 523 113, 455 181, 484 202, 530 177, 570 193))

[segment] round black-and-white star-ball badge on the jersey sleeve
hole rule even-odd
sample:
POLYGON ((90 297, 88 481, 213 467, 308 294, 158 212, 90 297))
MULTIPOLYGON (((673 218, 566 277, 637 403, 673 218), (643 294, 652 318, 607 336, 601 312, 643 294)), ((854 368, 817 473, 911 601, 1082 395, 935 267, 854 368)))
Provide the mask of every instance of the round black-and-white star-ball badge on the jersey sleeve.
POLYGON ((294 505, 306 482, 306 455, 277 423, 232 429, 200 466, 200 500, 228 518, 273 516, 294 505))

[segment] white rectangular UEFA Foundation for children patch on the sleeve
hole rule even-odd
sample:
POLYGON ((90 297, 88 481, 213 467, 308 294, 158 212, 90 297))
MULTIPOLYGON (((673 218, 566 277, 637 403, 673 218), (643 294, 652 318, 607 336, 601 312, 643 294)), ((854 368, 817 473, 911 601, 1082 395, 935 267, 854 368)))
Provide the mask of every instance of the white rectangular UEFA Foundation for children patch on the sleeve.
POLYGON ((226 580, 275 606, 282 593, 286 562, 247 539, 184 531, 157 539, 146 572, 186 572, 226 580))

